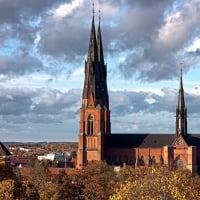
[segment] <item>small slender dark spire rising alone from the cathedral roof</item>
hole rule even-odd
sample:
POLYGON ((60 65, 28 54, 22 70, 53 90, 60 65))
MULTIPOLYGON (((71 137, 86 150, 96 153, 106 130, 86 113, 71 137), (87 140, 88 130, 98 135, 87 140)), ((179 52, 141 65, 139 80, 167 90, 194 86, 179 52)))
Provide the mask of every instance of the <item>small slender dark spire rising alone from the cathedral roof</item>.
POLYGON ((180 76, 178 105, 176 108, 176 135, 182 135, 187 137, 187 108, 184 100, 182 69, 180 76))

